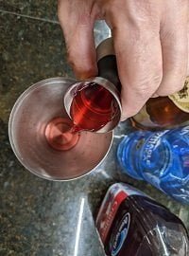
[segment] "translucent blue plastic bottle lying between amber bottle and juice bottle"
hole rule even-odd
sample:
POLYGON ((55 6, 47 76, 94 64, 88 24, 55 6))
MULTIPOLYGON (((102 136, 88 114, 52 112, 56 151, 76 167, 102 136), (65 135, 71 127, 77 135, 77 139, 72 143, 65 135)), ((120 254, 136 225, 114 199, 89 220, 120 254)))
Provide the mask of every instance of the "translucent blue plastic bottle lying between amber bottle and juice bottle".
POLYGON ((129 134, 119 144, 117 157, 123 173, 189 204, 189 126, 129 134))

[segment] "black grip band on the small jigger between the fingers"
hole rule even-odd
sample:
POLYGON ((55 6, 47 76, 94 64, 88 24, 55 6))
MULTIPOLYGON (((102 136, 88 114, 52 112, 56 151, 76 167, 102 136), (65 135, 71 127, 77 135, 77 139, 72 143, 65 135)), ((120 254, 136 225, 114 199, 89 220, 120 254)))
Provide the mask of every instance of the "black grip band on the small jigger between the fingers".
POLYGON ((112 82, 119 92, 121 92, 121 82, 119 81, 115 55, 104 56, 97 62, 98 76, 112 82))

